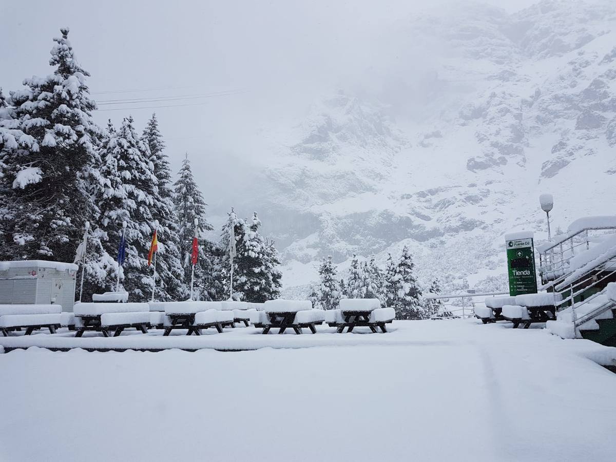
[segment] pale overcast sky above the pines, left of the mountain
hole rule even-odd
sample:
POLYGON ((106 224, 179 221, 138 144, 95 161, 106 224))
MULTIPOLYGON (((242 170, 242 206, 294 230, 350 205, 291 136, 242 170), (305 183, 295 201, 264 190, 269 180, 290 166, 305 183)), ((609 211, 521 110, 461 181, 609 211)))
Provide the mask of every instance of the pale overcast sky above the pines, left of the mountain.
MULTIPOLYGON (((460 2, 433 0, 430 6, 452 3, 460 2)), ((486 3, 514 12, 534 1, 486 3)), ((225 197, 232 188, 225 172, 238 159, 254 161, 262 149, 261 123, 275 126, 277 118, 298 115, 311 100, 363 73, 370 53, 379 52, 372 38, 423 4, 2 1, 0 86, 8 92, 26 76, 49 73, 52 37, 69 26, 76 56, 92 75, 99 123, 120 123, 132 114, 141 129, 156 111, 174 171, 188 152, 206 200, 215 202, 207 196, 225 197), (169 97, 178 99, 118 102, 169 97)))

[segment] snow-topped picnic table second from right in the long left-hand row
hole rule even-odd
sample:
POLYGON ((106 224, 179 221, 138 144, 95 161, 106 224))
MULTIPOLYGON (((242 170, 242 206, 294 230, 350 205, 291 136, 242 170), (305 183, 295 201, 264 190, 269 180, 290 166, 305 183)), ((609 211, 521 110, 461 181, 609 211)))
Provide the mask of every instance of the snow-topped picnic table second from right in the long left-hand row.
POLYGON ((266 322, 254 323, 255 327, 263 329, 264 334, 269 333, 272 327, 277 328, 279 334, 285 333, 288 328, 301 334, 304 327, 314 334, 317 332, 315 325, 320 325, 325 320, 322 310, 313 310, 312 303, 307 300, 269 300, 264 304, 264 312, 264 317, 259 315, 259 321, 266 322))

